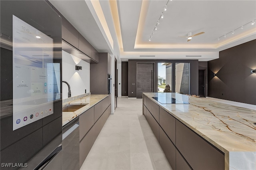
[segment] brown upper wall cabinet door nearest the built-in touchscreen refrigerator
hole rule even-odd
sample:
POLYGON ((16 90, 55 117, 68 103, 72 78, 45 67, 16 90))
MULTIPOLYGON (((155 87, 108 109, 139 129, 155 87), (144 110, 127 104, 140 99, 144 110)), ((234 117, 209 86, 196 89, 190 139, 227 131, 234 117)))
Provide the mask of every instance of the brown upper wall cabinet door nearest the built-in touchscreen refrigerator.
MULTIPOLYGON (((62 18, 62 39, 79 49, 78 43, 79 32, 68 20, 62 18)), ((89 55, 90 56, 90 55, 89 55)))

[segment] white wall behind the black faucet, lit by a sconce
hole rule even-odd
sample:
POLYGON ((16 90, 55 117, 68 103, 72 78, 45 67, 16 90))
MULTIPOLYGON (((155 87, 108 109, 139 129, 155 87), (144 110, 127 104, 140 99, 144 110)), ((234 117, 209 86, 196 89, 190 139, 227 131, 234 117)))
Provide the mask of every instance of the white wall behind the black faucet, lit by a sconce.
MULTIPOLYGON (((62 81, 70 84, 71 97, 90 92, 90 63, 62 51, 62 81), (76 65, 82 70, 76 70, 76 65)), ((68 98, 68 86, 62 83, 62 99, 68 98)))

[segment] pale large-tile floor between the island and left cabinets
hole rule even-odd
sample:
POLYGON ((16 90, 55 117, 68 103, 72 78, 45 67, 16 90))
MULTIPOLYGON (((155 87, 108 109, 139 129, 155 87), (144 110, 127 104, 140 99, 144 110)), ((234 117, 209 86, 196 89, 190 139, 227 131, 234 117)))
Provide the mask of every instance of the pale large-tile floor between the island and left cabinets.
POLYGON ((144 115, 142 99, 118 97, 80 170, 172 170, 144 115))

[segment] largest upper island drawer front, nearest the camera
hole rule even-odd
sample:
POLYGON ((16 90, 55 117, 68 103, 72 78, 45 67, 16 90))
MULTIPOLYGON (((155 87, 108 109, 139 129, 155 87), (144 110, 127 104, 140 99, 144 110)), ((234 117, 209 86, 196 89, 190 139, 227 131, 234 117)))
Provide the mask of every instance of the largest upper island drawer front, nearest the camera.
POLYGON ((176 120, 176 147, 195 170, 224 170, 224 154, 176 120))

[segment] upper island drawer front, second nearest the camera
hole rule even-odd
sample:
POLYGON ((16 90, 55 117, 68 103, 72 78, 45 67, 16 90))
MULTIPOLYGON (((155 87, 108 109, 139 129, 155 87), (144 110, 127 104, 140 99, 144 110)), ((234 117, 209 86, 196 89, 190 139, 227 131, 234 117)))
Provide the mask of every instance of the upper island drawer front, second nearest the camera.
POLYGON ((176 119, 172 115, 170 115, 168 112, 166 112, 164 109, 160 107, 159 124, 174 144, 175 144, 175 136, 176 136, 175 120, 176 119))

